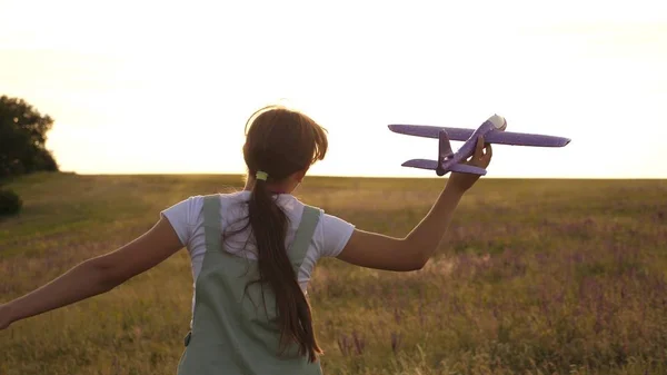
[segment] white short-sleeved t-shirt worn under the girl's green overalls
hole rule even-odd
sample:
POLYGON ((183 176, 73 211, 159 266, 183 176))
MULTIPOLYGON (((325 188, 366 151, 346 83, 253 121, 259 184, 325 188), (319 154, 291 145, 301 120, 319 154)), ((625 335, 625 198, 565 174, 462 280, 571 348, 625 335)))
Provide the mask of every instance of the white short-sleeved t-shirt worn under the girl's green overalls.
MULTIPOLYGON (((245 204, 250 198, 250 191, 242 190, 232 194, 220 194, 220 230, 236 231, 242 228, 248 221, 248 206, 245 204)), ((292 243, 297 228, 301 223, 303 214, 303 204, 295 196, 281 194, 277 198, 277 204, 288 217, 288 231, 285 239, 286 248, 292 243)), ((206 253, 206 240, 203 234, 203 196, 190 197, 162 211, 162 215, 169 220, 176 230, 181 244, 188 248, 192 265, 192 288, 196 287, 197 277, 201 270, 203 254, 206 253)), ((310 246, 306 251, 306 257, 297 279, 301 289, 306 293, 310 274, 317 260, 321 257, 336 257, 340 254, 347 241, 350 239, 355 226, 320 210, 320 219, 315 229, 310 246)), ((250 231, 246 229, 238 235, 226 236, 225 250, 239 256, 246 256, 257 259, 253 240, 249 239, 250 231)), ((192 310, 195 310, 195 296, 192 294, 192 310)))

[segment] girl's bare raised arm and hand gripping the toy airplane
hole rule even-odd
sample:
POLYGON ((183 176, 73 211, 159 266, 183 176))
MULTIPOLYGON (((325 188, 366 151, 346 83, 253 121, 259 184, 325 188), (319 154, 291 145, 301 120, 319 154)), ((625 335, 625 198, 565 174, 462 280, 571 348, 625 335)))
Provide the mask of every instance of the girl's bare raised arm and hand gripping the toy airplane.
MULTIPOLYGON (((467 164, 486 168, 491 161, 491 146, 477 140, 475 155, 467 164)), ((477 175, 451 174, 447 186, 430 211, 405 238, 355 229, 338 259, 387 270, 416 270, 424 267, 447 233, 454 211, 464 194, 479 179, 477 175)))

